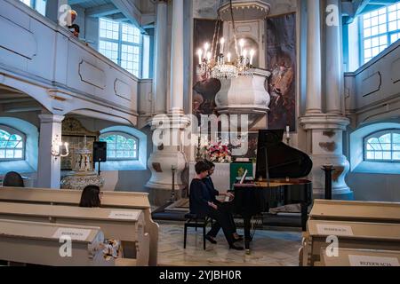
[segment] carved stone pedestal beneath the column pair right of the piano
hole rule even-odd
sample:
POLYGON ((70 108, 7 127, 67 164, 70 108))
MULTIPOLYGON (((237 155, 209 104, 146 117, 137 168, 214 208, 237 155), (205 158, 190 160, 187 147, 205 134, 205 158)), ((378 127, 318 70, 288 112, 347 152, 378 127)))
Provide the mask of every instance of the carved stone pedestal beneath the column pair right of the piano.
POLYGON ((300 118, 300 124, 308 130, 310 156, 313 169, 310 177, 313 181, 315 198, 324 198, 324 165, 332 165, 332 197, 333 199, 351 199, 352 192, 346 185, 345 177, 349 163, 343 155, 342 132, 348 126, 348 118, 342 116, 319 114, 300 118))

